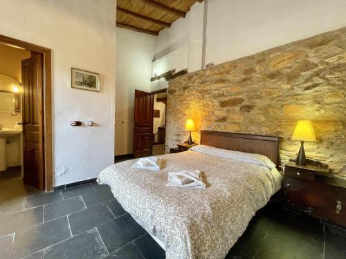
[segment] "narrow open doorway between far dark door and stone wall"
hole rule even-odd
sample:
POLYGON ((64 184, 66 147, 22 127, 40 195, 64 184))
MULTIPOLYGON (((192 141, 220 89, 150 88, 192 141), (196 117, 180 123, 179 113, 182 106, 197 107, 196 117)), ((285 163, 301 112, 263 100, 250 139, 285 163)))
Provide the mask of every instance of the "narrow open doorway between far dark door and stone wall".
POLYGON ((167 90, 154 93, 153 155, 165 154, 167 90))

